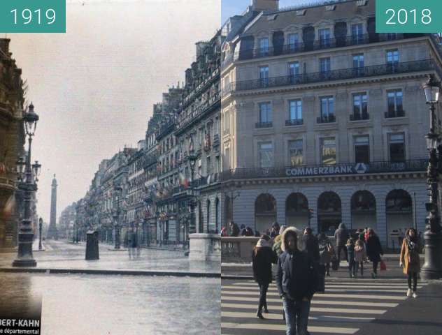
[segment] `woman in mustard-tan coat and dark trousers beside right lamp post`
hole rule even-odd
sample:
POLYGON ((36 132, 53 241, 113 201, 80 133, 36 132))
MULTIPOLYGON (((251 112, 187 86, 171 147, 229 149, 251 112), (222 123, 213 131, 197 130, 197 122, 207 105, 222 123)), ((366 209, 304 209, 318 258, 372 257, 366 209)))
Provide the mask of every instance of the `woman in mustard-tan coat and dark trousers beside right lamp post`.
POLYGON ((416 289, 418 288, 418 273, 420 272, 420 241, 414 228, 410 228, 405 233, 402 241, 401 255, 399 256, 399 265, 403 267, 404 274, 408 277, 407 297, 417 298, 416 289), (411 290, 411 281, 413 280, 413 292, 411 290))

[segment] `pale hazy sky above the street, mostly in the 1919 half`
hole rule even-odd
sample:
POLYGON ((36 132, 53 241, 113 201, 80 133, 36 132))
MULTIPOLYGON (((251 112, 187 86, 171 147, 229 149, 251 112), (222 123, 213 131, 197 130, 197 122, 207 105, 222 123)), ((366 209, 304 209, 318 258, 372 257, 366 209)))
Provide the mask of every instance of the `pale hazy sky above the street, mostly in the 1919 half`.
MULTIPOLYGON (((301 0, 281 0, 293 6, 301 0)), ((152 105, 185 80, 195 44, 251 0, 66 0, 66 34, 8 34, 40 116, 32 159, 42 166, 37 211, 57 220, 83 198, 99 163, 143 140, 152 105)), ((3 37, 3 36, 2 36, 3 37)))

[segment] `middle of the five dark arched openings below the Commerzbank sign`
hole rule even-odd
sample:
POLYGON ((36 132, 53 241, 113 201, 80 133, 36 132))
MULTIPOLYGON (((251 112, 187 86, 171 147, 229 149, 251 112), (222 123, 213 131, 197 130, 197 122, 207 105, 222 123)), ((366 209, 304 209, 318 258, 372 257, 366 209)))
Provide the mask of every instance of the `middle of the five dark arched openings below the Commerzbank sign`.
POLYGON ((334 192, 322 193, 318 198, 318 231, 334 234, 341 219, 341 198, 334 192))

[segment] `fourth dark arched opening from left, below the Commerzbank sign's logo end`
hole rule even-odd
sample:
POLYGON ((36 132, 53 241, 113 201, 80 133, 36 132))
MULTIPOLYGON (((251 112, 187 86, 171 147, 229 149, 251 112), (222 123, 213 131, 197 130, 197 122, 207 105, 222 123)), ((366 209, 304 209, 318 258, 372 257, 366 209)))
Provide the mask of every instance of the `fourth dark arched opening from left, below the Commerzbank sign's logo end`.
POLYGON ((357 191, 351 199, 352 229, 371 227, 376 231, 376 199, 369 191, 357 191))

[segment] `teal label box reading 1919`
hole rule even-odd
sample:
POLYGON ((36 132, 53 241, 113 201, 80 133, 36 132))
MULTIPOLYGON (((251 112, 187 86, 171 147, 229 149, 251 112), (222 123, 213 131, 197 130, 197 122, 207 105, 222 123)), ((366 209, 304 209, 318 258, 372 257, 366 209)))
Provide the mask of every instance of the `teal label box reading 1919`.
POLYGON ((0 0, 0 33, 66 33, 66 0, 0 0))

